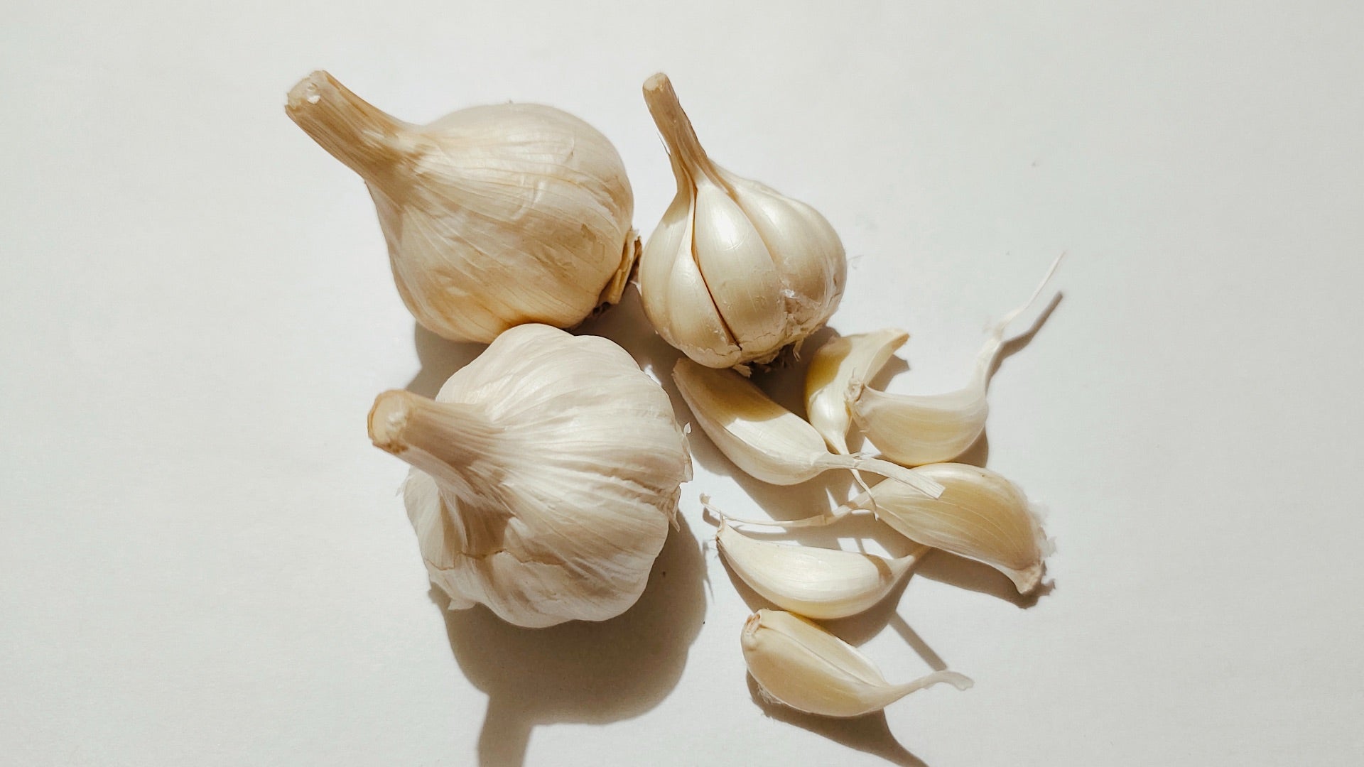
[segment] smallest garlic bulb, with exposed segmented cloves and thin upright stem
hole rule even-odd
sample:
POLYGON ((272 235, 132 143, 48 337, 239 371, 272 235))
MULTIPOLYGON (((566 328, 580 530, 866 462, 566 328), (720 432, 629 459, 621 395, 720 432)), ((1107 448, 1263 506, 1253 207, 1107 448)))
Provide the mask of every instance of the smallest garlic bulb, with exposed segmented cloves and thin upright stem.
POLYGON ((707 157, 663 74, 644 83, 678 192, 640 257, 644 311, 708 367, 767 363, 828 321, 843 295, 843 243, 813 207, 707 157))

